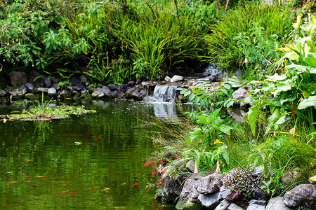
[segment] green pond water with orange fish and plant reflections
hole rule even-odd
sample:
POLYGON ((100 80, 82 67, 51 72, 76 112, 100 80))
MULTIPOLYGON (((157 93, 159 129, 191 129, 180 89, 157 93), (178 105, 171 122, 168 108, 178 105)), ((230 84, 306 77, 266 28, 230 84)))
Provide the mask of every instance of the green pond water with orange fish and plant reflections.
POLYGON ((174 209, 146 189, 157 179, 143 167, 155 146, 136 126, 176 116, 175 107, 114 100, 86 107, 98 112, 0 122, 0 209, 174 209))

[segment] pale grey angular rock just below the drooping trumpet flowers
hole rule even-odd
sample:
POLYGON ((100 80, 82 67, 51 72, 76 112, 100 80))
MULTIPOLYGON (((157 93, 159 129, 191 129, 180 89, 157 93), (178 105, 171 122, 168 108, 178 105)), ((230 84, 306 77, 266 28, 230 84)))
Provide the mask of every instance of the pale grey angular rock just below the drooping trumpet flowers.
POLYGON ((221 179, 223 179, 223 174, 213 173, 199 179, 195 188, 197 189, 197 192, 202 194, 217 193, 220 190, 220 187, 223 186, 221 179))

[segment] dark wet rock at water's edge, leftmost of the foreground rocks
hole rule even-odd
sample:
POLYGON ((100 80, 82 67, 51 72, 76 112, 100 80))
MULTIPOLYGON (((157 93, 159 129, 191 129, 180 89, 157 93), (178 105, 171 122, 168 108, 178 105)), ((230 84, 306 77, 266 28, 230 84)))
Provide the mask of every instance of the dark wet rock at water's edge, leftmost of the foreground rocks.
POLYGON ((182 190, 181 183, 177 179, 171 179, 170 176, 166 176, 164 182, 164 197, 162 198, 163 202, 166 203, 175 203, 178 199, 182 190))

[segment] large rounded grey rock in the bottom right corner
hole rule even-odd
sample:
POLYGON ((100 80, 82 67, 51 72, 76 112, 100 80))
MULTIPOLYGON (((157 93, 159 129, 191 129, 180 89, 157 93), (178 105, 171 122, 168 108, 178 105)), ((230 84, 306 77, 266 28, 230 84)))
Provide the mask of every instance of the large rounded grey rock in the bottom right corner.
POLYGON ((312 184, 301 184, 285 193, 283 202, 287 207, 305 207, 316 209, 316 187, 312 184))

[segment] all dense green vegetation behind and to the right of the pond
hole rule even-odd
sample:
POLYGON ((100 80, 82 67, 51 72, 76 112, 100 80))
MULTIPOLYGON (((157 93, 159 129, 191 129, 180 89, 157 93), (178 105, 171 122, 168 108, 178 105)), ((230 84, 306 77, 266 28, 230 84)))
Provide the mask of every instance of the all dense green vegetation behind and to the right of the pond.
POLYGON ((275 176, 266 183, 268 195, 283 192, 281 176, 295 167, 301 176, 289 188, 315 175, 313 1, 41 2, 0 4, 2 73, 80 72, 95 85, 108 85, 159 79, 201 59, 232 73, 239 68, 244 80, 180 89, 197 109, 184 122, 159 124, 166 134, 157 141, 176 156, 192 156, 202 171, 254 163, 268 177, 270 167, 275 176), (236 103, 233 83, 251 90, 243 126, 223 109, 236 103))

